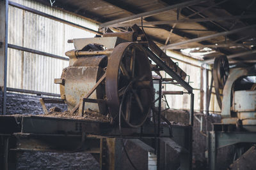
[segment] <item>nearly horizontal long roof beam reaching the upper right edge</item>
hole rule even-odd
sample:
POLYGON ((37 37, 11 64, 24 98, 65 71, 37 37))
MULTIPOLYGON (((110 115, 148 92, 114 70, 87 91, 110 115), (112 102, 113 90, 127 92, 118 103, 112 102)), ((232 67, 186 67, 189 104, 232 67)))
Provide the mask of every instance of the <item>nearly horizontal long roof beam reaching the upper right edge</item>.
MULTIPOLYGON (((209 18, 195 18, 195 19, 181 19, 181 20, 163 20, 163 21, 153 21, 153 22, 143 22, 143 25, 168 25, 177 23, 190 23, 190 22, 209 22, 209 21, 220 21, 220 20, 237 20, 245 18, 256 18, 256 15, 236 15, 229 17, 209 17, 209 18)), ((141 22, 128 22, 124 24, 115 24, 112 27, 129 27, 131 25, 137 24, 141 26, 141 22)))

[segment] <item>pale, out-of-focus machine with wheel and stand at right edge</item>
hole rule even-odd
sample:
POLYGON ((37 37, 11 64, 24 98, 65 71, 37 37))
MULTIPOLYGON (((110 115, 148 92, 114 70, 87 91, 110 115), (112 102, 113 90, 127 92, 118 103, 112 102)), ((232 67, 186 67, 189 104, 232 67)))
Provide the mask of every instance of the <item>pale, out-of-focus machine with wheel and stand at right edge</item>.
POLYGON ((240 143, 236 145, 236 160, 250 143, 256 143, 255 76, 255 64, 230 67, 227 57, 214 59, 212 77, 221 108, 221 123, 213 124, 212 131, 208 133, 208 158, 211 169, 216 169, 218 148, 240 143))

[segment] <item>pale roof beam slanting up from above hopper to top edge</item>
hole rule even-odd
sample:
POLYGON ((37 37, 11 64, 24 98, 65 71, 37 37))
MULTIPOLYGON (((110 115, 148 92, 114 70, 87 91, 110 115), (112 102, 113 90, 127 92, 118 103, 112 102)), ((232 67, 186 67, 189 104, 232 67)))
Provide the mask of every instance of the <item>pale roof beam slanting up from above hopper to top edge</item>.
MULTIPOLYGON (((205 1, 207 1, 207 0, 205 0, 205 1)), ((136 20, 136 19, 141 18, 141 17, 150 17, 150 16, 153 16, 153 15, 157 15, 159 13, 163 13, 165 11, 174 10, 176 8, 183 8, 185 6, 191 6, 193 4, 204 3, 205 1, 193 0, 193 1, 187 1, 187 2, 184 2, 184 3, 174 4, 172 6, 166 6, 164 8, 158 9, 158 10, 138 13, 138 14, 132 15, 130 17, 125 17, 125 18, 120 18, 120 19, 117 19, 117 20, 112 20, 112 21, 109 21, 109 22, 105 22, 103 24, 100 24, 100 27, 111 27, 111 25, 114 25, 114 24, 118 24, 118 23, 122 23, 122 22, 129 22, 131 20, 136 20)))

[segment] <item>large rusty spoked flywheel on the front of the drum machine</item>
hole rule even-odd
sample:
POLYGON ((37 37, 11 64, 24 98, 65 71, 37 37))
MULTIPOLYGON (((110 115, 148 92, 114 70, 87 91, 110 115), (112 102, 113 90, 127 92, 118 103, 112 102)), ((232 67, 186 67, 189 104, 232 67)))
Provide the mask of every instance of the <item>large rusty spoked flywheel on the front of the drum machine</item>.
POLYGON ((117 45, 109 57, 106 97, 109 112, 131 127, 145 122, 152 104, 152 73, 147 53, 137 43, 117 45))

